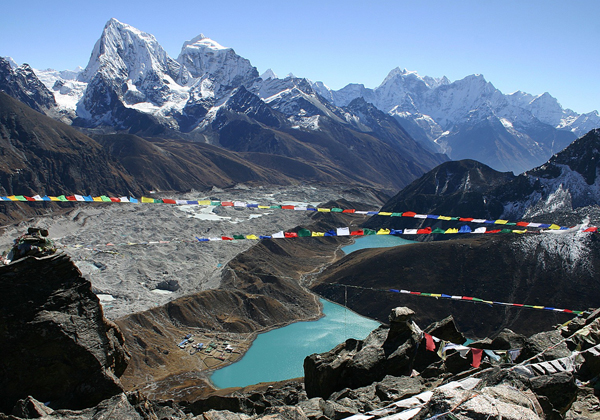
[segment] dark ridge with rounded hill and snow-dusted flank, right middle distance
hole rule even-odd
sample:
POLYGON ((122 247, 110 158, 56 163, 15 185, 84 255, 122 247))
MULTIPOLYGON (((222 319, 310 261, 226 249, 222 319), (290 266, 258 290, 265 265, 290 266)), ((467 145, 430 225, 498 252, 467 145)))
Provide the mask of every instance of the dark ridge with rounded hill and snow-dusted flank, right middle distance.
MULTIPOLYGON (((400 191, 382 210, 543 220, 550 214, 562 217, 588 207, 598 212, 599 205, 600 129, 595 129, 543 165, 518 176, 473 160, 442 163, 400 191)), ((393 228, 405 223, 384 219, 390 218, 369 223, 393 228)))

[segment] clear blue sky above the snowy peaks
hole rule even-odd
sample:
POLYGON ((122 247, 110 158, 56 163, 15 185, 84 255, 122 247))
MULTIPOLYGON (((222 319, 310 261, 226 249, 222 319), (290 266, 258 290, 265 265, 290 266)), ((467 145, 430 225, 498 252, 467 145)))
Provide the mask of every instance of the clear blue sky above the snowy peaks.
POLYGON ((172 57, 203 33, 263 72, 376 87, 395 67, 454 81, 478 73, 503 93, 549 92, 600 110, 598 0, 5 1, 0 56, 85 67, 110 18, 153 34, 172 57))

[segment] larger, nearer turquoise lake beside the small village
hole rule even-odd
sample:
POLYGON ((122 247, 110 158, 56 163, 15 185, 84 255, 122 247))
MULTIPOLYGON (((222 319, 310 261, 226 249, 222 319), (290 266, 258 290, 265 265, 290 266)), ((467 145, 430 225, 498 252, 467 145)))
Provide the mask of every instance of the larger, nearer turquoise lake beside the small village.
POLYGON ((324 317, 259 334, 241 360, 212 374, 212 383, 229 388, 304 376, 306 356, 329 351, 348 338, 363 339, 379 326, 341 305, 320 301, 324 317))

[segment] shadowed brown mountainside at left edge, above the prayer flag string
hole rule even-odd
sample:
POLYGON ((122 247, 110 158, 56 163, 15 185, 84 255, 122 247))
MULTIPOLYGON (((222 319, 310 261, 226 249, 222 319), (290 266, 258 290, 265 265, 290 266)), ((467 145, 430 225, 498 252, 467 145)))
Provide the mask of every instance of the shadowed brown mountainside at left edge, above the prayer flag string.
POLYGON ((0 193, 138 195, 142 188, 102 146, 0 93, 0 193))

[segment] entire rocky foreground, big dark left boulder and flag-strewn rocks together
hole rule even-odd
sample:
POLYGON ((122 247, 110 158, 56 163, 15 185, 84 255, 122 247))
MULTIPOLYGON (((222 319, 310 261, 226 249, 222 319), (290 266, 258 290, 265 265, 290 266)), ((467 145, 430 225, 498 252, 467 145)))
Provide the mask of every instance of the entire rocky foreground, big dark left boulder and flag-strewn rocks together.
POLYGON ((461 346, 451 317, 421 330, 396 308, 365 340, 308 357, 304 380, 176 403, 123 391, 122 336, 68 257, 0 275, 0 419, 600 418, 597 312, 461 346))

